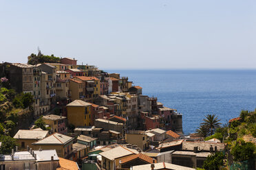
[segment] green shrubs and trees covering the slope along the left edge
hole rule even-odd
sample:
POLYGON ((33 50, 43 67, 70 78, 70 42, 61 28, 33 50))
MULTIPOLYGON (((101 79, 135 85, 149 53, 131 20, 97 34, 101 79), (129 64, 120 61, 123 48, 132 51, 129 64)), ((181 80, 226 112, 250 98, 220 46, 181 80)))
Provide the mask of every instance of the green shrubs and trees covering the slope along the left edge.
POLYGON ((1 154, 10 154, 17 145, 17 141, 11 136, 17 132, 17 127, 21 126, 23 119, 28 118, 28 116, 31 117, 33 102, 33 96, 30 93, 18 94, 13 89, 0 88, 1 154))

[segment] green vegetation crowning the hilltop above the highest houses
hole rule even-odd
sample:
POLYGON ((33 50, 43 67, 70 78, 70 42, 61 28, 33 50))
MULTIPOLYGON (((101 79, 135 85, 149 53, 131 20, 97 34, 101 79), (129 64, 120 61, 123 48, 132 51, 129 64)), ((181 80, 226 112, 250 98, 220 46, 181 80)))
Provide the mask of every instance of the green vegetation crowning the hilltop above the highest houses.
POLYGON ((55 57, 53 54, 51 56, 44 56, 40 52, 37 56, 34 53, 28 56, 28 64, 35 65, 44 62, 59 63, 61 62, 61 58, 55 57))

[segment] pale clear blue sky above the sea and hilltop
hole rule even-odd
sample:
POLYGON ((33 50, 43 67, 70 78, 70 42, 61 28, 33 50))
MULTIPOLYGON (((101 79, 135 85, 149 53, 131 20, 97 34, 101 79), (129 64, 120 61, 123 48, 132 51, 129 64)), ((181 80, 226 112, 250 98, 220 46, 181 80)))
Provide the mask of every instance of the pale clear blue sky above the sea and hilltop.
POLYGON ((255 69, 256 1, 1 1, 0 61, 100 69, 255 69))

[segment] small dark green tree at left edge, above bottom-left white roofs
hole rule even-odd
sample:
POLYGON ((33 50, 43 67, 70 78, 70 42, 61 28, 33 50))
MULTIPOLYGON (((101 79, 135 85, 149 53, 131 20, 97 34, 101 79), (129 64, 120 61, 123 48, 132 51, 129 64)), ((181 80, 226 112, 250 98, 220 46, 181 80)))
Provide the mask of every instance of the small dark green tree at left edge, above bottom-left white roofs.
POLYGON ((10 154, 12 152, 12 149, 14 149, 17 145, 16 139, 10 136, 1 135, 0 142, 2 143, 0 147, 1 154, 10 154))

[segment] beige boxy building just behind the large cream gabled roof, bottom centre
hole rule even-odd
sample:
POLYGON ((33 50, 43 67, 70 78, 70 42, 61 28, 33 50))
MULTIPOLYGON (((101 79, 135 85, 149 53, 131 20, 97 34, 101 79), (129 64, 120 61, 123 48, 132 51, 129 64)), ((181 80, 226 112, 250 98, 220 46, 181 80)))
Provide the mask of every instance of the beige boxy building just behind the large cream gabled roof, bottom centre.
POLYGON ((149 137, 144 131, 131 131, 125 134, 125 141, 138 146, 143 151, 149 149, 149 137))

